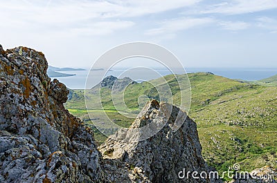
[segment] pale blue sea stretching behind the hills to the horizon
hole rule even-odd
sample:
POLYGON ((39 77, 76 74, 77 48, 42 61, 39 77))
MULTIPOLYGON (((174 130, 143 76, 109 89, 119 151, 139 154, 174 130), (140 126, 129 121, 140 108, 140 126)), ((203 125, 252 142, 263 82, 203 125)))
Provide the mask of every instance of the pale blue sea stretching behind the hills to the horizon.
MULTIPOLYGON (((277 75, 277 68, 186 68, 186 73, 210 72, 215 75, 227 77, 230 79, 242 79, 246 81, 256 81, 277 75)), ((161 76, 170 75, 172 72, 168 69, 131 69, 116 68, 114 70, 74 70, 60 73, 74 74, 70 77, 51 77, 58 79, 71 89, 92 88, 98 84, 104 77, 113 75, 118 78, 129 77, 134 81, 148 81, 157 79, 161 76), (154 71, 153 71, 154 70, 154 71), (89 76, 88 76, 89 74, 89 76)), ((175 74, 183 74, 184 69, 175 70, 175 74)))

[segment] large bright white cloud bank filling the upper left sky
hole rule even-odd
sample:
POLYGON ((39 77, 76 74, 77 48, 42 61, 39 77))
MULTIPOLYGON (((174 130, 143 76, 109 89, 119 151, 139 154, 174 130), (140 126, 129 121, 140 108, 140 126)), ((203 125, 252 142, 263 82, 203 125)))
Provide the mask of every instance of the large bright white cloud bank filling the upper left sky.
MULTIPOLYGON (((176 1, 1 1, 3 28, 25 32, 48 31, 57 35, 108 35, 134 26, 126 19, 191 6, 199 0, 176 1)), ((1 27, 0 25, 0 27, 1 27)))

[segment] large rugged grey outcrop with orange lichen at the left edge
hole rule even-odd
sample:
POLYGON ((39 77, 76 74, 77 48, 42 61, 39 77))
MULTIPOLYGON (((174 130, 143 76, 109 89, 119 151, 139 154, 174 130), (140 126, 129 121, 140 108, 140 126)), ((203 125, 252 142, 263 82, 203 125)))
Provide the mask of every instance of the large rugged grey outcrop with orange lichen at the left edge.
POLYGON ((93 133, 64 109, 42 52, 0 46, 0 182, 103 180, 93 133))

